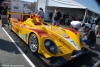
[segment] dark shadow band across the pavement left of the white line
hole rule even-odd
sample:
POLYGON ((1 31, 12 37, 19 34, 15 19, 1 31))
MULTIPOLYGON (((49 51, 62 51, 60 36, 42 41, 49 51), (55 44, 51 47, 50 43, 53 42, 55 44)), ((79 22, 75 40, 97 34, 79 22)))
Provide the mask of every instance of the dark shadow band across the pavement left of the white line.
POLYGON ((13 44, 13 42, 9 42, 3 39, 0 39, 0 51, 1 50, 14 53, 14 54, 20 54, 20 52, 18 51, 16 46, 13 44))

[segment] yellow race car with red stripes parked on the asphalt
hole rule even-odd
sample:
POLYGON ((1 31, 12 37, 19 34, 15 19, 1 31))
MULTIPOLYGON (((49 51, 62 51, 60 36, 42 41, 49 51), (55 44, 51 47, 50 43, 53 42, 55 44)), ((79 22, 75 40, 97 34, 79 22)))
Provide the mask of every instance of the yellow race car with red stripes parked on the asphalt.
POLYGON ((9 19, 9 29, 14 31, 34 54, 49 66, 62 66, 88 50, 84 47, 80 33, 71 28, 53 26, 41 16, 31 16, 26 21, 9 19))

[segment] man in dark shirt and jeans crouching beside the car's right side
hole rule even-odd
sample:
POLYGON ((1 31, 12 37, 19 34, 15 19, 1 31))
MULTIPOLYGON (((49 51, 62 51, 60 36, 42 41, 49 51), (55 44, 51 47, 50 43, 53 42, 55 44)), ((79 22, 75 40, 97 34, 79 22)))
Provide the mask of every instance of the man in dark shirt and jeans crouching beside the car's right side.
POLYGON ((85 38, 85 39, 83 39, 83 41, 87 45, 89 45, 89 48, 91 48, 96 43, 95 32, 92 31, 88 26, 85 26, 85 28, 84 28, 83 37, 85 38))

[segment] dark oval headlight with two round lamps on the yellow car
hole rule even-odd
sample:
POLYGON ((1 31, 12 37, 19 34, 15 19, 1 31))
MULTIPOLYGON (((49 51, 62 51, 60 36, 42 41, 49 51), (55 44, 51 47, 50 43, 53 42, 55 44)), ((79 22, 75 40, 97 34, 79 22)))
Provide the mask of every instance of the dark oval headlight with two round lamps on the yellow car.
POLYGON ((44 41, 44 45, 45 45, 46 49, 49 52, 51 52, 52 54, 57 54, 58 53, 57 46, 56 46, 56 44, 53 41, 51 41, 49 39, 46 39, 44 41))

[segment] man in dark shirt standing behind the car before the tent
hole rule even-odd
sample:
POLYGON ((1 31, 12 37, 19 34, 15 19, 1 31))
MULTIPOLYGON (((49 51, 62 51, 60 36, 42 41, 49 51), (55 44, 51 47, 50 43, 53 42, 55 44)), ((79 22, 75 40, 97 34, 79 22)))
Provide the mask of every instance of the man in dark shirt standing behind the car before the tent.
POLYGON ((59 23, 61 20, 61 17, 62 17, 62 15, 59 12, 59 9, 56 8, 55 13, 53 14, 53 17, 52 17, 52 25, 56 25, 57 22, 59 23))

